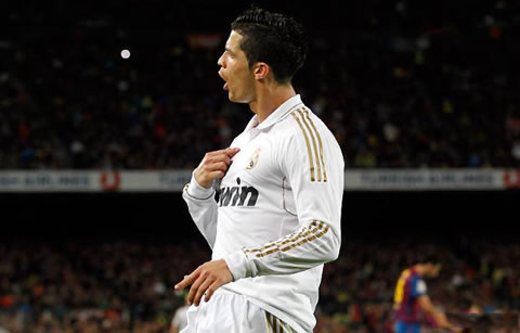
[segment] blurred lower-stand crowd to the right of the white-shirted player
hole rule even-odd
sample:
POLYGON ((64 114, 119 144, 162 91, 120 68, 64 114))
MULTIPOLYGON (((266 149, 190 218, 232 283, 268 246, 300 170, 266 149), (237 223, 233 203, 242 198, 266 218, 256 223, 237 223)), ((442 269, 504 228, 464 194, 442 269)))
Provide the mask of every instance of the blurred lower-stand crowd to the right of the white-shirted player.
MULTIPOLYGON (((441 274, 426 279, 428 295, 440 310, 464 317, 520 309, 520 271, 515 264, 520 245, 516 242, 478 238, 463 238, 455 244, 411 239, 346 241, 341 253, 339 260, 325 268, 317 332, 393 332, 396 279, 428 253, 438 254, 442 262, 441 274)), ((425 317, 425 328, 431 322, 425 317)))

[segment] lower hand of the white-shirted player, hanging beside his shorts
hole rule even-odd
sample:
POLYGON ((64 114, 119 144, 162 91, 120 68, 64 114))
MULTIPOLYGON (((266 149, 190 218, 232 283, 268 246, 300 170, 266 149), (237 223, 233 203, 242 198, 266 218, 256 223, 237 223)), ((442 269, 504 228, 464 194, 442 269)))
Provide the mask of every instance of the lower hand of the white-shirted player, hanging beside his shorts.
POLYGON ((200 265, 190 276, 185 276, 181 282, 176 284, 176 291, 183 290, 191 284, 187 303, 198 306, 203 295, 206 294, 205 300, 208 302, 217 289, 231 281, 233 281, 233 276, 227 268, 227 264, 224 259, 220 259, 200 265))

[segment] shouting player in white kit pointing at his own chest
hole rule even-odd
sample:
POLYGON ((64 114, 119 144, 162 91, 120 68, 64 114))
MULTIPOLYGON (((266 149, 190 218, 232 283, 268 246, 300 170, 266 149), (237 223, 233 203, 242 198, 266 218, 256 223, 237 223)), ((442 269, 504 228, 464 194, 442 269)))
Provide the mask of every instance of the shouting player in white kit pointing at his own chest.
POLYGON ((231 25, 219 75, 230 101, 255 115, 231 148, 204 156, 183 191, 212 248, 176 285, 191 285, 183 332, 315 325, 323 264, 339 254, 343 157, 291 85, 306 52, 301 25, 285 15, 251 9, 231 25))

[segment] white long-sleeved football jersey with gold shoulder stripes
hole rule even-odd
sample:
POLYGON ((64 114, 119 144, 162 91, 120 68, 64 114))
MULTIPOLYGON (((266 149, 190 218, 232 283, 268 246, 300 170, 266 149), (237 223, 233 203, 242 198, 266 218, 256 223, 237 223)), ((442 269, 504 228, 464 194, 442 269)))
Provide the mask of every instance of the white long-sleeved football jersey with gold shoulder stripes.
POLYGON ((323 264, 340 247, 343 156, 333 133, 295 95, 231 148, 239 148, 220 183, 192 177, 183 197, 197 228, 234 282, 223 289, 312 332, 323 264))

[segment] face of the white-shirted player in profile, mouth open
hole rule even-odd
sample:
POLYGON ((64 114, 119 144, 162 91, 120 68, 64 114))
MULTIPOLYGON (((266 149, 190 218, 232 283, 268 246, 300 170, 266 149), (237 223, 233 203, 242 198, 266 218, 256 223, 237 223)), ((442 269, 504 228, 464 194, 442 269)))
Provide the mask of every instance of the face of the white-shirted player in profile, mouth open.
POLYGON ((250 103, 255 99, 255 78, 246 53, 240 49, 242 39, 240 34, 231 31, 225 51, 218 61, 219 75, 225 81, 224 90, 227 90, 230 101, 250 103))

